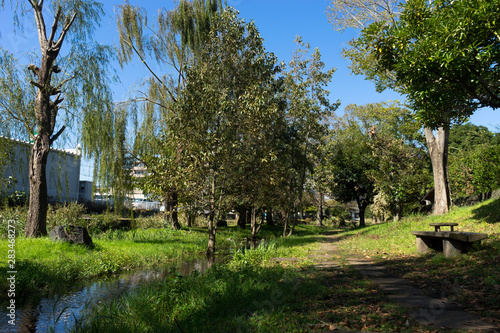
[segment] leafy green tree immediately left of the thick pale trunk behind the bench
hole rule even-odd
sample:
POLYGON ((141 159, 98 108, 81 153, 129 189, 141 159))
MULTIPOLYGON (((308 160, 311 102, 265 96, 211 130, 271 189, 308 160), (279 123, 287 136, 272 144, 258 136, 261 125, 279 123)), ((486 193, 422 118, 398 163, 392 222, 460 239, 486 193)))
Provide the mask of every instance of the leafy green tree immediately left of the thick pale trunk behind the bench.
POLYGON ((356 106, 353 115, 370 136, 377 167, 369 178, 394 220, 420 206, 430 185, 430 161, 421 125, 398 103, 356 106))

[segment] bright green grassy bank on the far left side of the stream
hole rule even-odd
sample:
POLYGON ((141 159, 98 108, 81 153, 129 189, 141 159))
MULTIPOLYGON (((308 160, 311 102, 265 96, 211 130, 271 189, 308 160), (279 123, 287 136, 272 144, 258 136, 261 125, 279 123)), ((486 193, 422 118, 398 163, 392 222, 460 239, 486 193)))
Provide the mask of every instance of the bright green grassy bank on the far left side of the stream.
MULTIPOLYGON (((264 227, 259 236, 274 239, 281 232, 279 227, 264 227)), ((299 226, 297 229, 297 233, 302 235, 314 235, 317 232, 314 227, 299 226)), ((248 229, 220 228, 217 233, 217 248, 224 252, 229 248, 239 247, 241 240, 248 236, 248 229)), ((110 230, 93 234, 95 246, 86 248, 53 242, 48 237, 26 239, 19 235, 15 244, 16 297, 22 301, 34 294, 60 292, 78 287, 89 280, 201 255, 206 250, 207 238, 206 228, 202 227, 178 231, 110 230)), ((4 254, 0 265, 0 301, 2 297, 6 297, 8 290, 8 244, 6 238, 0 239, 0 253, 4 254)))

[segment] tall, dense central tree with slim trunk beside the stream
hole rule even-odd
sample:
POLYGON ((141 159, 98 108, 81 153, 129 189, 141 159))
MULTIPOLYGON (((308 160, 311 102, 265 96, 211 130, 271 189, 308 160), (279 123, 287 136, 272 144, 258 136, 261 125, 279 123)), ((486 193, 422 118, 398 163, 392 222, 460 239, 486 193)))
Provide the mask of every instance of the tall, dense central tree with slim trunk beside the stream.
MULTIPOLYGON (((242 154, 256 154, 259 136, 267 136, 280 116, 279 70, 255 24, 244 23, 232 9, 214 17, 206 47, 187 68, 176 128, 185 153, 182 162, 196 167, 208 198, 207 254, 215 251, 216 215, 232 170, 247 162, 242 154)), ((264 161, 273 154, 259 150, 256 156, 264 161)))

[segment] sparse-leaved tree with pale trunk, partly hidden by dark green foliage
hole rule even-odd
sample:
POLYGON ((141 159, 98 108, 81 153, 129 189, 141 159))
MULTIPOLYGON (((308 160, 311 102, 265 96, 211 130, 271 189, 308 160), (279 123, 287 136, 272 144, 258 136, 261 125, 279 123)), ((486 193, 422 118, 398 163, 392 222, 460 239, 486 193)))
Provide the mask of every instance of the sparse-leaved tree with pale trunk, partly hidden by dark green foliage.
MULTIPOLYGON (((384 29, 398 22, 406 3, 407 1, 332 0, 329 7, 329 19, 335 28, 361 29, 361 35, 348 43, 349 47, 343 50, 343 55, 351 59, 353 73, 363 74, 367 79, 374 81, 378 91, 391 88, 402 94, 408 94, 406 83, 399 80, 393 68, 383 65, 380 57, 382 47, 379 43, 384 29)), ((396 44, 387 44, 387 46, 392 45, 396 44)), ((431 107, 436 109, 434 106, 431 107)), ((420 112, 417 105, 412 105, 412 108, 417 113, 420 112)), ((448 105, 447 110, 450 108, 448 105)), ((449 112, 442 113, 442 111, 434 113, 439 114, 437 122, 426 122, 422 117, 419 118, 425 127, 428 152, 433 166, 435 214, 448 212, 451 204, 448 179, 448 137, 451 119, 447 117, 449 112)))

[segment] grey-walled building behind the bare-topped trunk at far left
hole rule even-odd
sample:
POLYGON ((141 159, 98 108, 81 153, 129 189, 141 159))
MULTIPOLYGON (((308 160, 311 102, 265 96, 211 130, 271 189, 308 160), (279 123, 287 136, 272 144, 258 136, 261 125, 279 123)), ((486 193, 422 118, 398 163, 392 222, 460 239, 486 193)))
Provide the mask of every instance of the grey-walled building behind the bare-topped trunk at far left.
MULTIPOLYGON (((15 191, 29 195, 29 160, 32 144, 0 137, 0 192, 15 191)), ((80 192, 80 148, 51 148, 47 159, 47 194, 49 202, 78 201, 80 192)))

